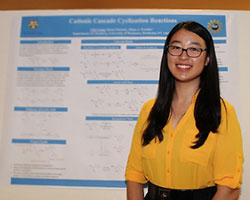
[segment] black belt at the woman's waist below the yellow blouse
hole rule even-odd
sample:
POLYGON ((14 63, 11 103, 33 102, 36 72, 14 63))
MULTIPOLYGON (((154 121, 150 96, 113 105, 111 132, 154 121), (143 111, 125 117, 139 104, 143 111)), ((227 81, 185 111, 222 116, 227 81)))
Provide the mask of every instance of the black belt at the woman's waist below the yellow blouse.
POLYGON ((144 200, 211 200, 216 186, 195 190, 174 190, 148 183, 148 193, 144 200))

